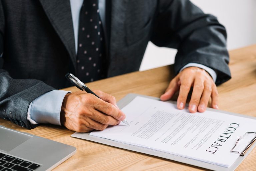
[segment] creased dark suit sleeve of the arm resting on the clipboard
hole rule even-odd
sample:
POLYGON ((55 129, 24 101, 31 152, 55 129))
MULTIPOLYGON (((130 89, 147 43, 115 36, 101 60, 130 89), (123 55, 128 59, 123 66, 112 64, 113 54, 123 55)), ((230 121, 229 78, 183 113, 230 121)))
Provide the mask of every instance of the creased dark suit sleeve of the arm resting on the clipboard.
POLYGON ((231 78, 227 33, 215 16, 204 14, 189 0, 159 0, 154 23, 151 41, 178 49, 176 74, 186 64, 198 63, 217 73, 217 85, 231 78))

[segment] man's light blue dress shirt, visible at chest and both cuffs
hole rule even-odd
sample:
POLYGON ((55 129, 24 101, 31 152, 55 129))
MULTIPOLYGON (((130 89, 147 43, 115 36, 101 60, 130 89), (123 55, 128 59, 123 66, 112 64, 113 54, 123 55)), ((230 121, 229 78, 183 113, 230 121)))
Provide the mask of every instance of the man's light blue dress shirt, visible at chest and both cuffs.
MULTIPOLYGON (((99 11, 100 11, 100 17, 103 24, 104 32, 106 30, 105 3, 106 3, 106 0, 99 0, 99 11)), ((82 4, 83 4, 83 0, 70 0, 76 54, 78 49, 77 45, 78 45, 79 14, 80 14, 80 9, 82 7, 82 4)), ((183 68, 181 68, 180 72, 183 69, 191 66, 206 70, 211 75, 214 82, 216 81, 217 75, 215 71, 201 64, 189 63, 185 65, 183 68)), ((27 119, 31 122, 31 124, 50 123, 54 125, 61 125, 60 110, 61 110, 62 101, 67 93, 69 93, 69 91, 53 90, 39 96, 38 98, 36 98, 34 101, 30 103, 28 108, 27 119)))

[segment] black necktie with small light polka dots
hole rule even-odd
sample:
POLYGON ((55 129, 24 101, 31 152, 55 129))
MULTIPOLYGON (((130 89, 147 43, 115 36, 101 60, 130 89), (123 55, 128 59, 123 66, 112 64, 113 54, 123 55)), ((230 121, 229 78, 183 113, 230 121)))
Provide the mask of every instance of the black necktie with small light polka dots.
POLYGON ((84 0, 78 30, 77 77, 85 82, 105 78, 103 26, 98 0, 84 0))

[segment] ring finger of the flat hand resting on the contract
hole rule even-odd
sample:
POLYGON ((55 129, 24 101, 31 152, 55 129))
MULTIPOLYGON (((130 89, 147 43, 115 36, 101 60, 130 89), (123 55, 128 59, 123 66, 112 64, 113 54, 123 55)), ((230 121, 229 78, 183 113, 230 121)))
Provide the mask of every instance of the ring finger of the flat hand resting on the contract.
POLYGON ((203 95, 201 97, 201 100, 198 106, 199 112, 204 112, 206 110, 211 94, 212 94, 212 83, 205 81, 203 95))

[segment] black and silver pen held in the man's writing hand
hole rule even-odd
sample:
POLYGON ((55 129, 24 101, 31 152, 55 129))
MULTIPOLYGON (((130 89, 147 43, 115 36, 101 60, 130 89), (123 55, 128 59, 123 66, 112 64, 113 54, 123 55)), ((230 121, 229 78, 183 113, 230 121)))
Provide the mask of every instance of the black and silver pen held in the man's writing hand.
MULTIPOLYGON (((97 96, 97 94, 95 94, 92 90, 90 90, 82 81, 80 81, 78 78, 76 78, 73 74, 71 73, 67 73, 66 78, 72 83, 74 84, 77 88, 79 88, 80 90, 84 90, 87 93, 91 93, 94 96, 100 98, 99 96, 97 96)), ((129 125, 129 123, 125 120, 122 121, 123 123, 125 123, 126 125, 129 125)))

